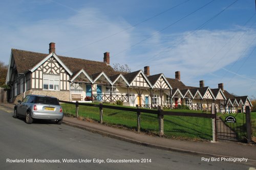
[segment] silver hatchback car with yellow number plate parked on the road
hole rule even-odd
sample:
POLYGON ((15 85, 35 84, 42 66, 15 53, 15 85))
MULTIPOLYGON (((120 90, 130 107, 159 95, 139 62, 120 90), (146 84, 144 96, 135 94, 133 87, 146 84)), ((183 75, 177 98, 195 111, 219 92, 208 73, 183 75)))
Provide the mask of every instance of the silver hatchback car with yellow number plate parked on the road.
POLYGON ((58 99, 45 95, 27 95, 23 101, 18 101, 13 111, 13 117, 26 116, 26 123, 32 124, 33 119, 55 120, 62 123, 63 112, 58 99))

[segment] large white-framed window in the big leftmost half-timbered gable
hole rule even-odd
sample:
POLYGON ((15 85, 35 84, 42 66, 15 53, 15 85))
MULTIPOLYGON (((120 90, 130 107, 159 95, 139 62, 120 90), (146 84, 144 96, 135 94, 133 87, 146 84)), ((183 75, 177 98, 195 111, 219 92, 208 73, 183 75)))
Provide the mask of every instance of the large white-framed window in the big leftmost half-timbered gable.
POLYGON ((43 79, 44 90, 59 90, 58 75, 44 75, 43 79))

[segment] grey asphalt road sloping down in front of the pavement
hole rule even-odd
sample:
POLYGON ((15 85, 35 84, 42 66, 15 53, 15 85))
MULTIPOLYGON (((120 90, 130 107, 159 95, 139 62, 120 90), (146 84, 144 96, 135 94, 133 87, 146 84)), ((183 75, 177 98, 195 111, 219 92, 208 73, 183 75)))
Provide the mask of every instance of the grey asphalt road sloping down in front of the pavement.
POLYGON ((64 124, 36 121, 28 125, 23 118, 13 118, 11 112, 0 106, 0 169, 249 169, 250 167, 232 162, 205 162, 202 161, 201 156, 148 148, 64 124), (12 162, 17 160, 21 162, 12 162), (51 163, 50 161, 53 160, 59 162, 51 163), (68 162, 63 162, 65 160, 68 162), (79 162, 81 160, 84 162, 79 162), (108 162, 111 160, 139 162, 108 162))

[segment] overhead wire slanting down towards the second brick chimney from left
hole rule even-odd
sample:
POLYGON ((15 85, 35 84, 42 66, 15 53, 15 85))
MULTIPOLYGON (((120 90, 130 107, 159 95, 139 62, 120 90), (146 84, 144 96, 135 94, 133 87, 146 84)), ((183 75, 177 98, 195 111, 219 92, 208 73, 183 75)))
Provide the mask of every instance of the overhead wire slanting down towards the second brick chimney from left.
MULTIPOLYGON (((130 47, 128 47, 128 48, 125 48, 124 50, 122 50, 122 51, 120 51, 120 52, 114 54, 113 56, 117 56, 118 54, 123 53, 123 52, 125 52, 126 50, 129 50, 130 48, 132 48, 132 47, 134 47, 134 46, 140 44, 141 42, 143 42, 143 41, 145 41, 145 40, 147 40, 147 39, 149 39, 149 38, 155 36, 155 35, 158 34, 159 32, 162 32, 162 31, 166 30, 167 28, 172 27, 173 25, 175 25, 176 23, 178 23, 178 22, 181 21, 182 19, 188 17, 189 15, 192 15, 193 13, 199 11, 200 9, 204 8, 205 6, 209 5, 210 3, 214 2, 214 1, 215 1, 215 0, 210 1, 209 3, 207 3, 207 4, 203 5, 202 7, 198 8, 197 10, 195 10, 195 11, 193 11, 193 12, 191 12, 191 13, 185 15, 185 16, 183 16, 182 18, 178 19, 177 21, 173 22, 172 24, 168 25, 167 27, 165 27, 165 28, 163 28, 163 29, 161 29, 161 30, 155 32, 155 33, 152 34, 151 36, 149 36, 149 37, 147 37, 147 38, 145 38, 145 39, 143 39, 143 40, 141 40, 141 41, 139 41, 139 42, 133 44, 132 46, 130 46, 130 47)), ((237 1, 238 1, 238 0, 237 0, 237 1)))

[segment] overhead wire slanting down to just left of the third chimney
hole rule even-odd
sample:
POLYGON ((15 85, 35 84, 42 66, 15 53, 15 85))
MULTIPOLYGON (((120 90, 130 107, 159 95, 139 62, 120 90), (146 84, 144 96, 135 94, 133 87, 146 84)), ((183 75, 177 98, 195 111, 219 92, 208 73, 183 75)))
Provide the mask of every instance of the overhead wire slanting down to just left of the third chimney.
MULTIPOLYGON (((237 1, 238 1, 238 0, 237 0, 237 1)), ((234 3, 236 3, 237 1, 234 1, 232 4, 230 4, 229 6, 227 6, 226 8, 224 8, 223 10, 221 10, 219 13, 217 13, 216 15, 212 16, 210 19, 208 19, 207 21, 205 21, 204 23, 202 23, 202 25, 200 25, 199 27, 197 27, 196 29, 194 29, 193 32, 189 33, 188 35, 186 35, 186 36, 180 38, 178 41, 176 41, 176 42, 179 42, 179 43, 174 43, 174 44, 172 44, 172 46, 169 46, 169 47, 165 48, 165 50, 159 52, 157 55, 154 55, 154 56, 152 56, 151 58, 148 58, 145 62, 143 62, 143 63, 141 63, 141 64, 139 64, 139 65, 137 65, 137 66, 141 66, 141 65, 143 65, 143 64, 146 64, 147 61, 150 61, 150 60, 154 59, 155 57, 157 57, 158 55, 160 55, 161 53, 165 52, 165 51, 168 50, 168 49, 169 49, 169 51, 172 50, 172 49, 173 49, 173 46, 181 44, 182 42, 185 41, 185 39, 186 39, 187 37, 191 36, 191 35, 194 34, 194 33, 197 33, 199 30, 201 30, 203 27, 205 27, 211 20, 215 19, 217 16, 219 16, 222 12, 224 12, 226 9, 228 9, 230 6, 232 6, 232 5, 233 5, 234 3), (181 41, 181 40, 182 40, 182 41, 181 41)), ((213 57, 212 57, 212 58, 213 58, 213 57)))

